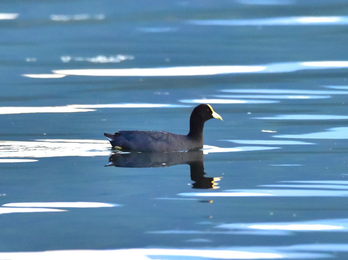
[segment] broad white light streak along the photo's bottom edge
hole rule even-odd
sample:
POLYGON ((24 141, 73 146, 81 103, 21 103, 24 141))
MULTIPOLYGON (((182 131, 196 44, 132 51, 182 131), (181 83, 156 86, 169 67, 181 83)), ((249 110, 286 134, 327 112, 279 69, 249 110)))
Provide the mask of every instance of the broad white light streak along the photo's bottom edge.
POLYGON ((0 258, 27 259, 310 259, 330 257, 330 254, 292 252, 284 247, 219 247, 191 248, 130 248, 114 250, 55 250, 41 252, 0 252, 0 258), (284 248, 285 249, 285 248, 284 248))

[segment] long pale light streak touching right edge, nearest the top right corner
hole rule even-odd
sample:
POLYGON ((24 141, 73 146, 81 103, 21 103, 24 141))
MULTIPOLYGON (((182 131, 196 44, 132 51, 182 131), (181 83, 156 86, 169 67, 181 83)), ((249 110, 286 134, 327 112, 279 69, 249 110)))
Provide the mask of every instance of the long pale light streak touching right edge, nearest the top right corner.
POLYGON ((290 16, 262 19, 190 20, 194 25, 275 26, 275 25, 346 25, 348 16, 290 16))

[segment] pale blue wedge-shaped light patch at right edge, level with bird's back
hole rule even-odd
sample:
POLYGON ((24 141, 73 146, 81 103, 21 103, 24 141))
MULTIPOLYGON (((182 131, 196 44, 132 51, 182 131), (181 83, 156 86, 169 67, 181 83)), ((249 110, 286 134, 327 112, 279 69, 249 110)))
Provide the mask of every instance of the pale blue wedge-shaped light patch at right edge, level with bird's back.
POLYGON ((348 127, 330 128, 325 132, 301 133, 299 135, 276 135, 273 137, 298 139, 348 139, 348 127))

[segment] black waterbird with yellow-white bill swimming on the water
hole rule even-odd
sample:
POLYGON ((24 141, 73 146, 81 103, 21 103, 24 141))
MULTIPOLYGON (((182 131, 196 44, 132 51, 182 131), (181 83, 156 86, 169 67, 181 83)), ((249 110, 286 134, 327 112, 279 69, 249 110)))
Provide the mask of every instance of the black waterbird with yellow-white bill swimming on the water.
POLYGON ((114 134, 104 133, 112 147, 125 151, 137 152, 175 152, 203 147, 204 123, 221 116, 210 105, 200 104, 195 107, 190 117, 190 131, 187 135, 176 135, 155 131, 119 131, 114 134))

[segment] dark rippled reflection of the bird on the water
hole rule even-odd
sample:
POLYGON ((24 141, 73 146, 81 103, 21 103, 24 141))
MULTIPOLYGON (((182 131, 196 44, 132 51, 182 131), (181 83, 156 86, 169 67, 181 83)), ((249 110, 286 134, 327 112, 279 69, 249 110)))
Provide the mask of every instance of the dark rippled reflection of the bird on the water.
POLYGON ((125 168, 153 168, 169 167, 173 165, 188 164, 190 166, 191 180, 194 189, 217 189, 217 181, 221 177, 205 177, 204 154, 201 150, 168 153, 140 153, 115 151, 109 158, 106 166, 125 168))

